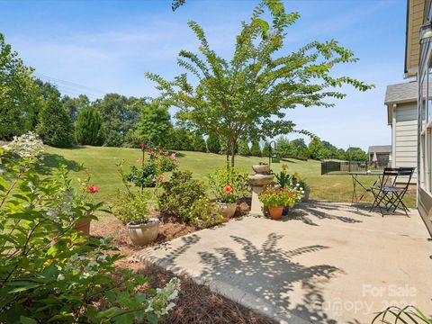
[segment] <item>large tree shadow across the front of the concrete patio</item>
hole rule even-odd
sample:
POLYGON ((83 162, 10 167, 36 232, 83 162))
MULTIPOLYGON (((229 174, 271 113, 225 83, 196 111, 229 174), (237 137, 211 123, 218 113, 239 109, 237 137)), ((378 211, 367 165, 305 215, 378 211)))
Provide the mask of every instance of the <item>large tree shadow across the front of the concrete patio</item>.
POLYGON ((217 288, 224 287, 224 291, 242 293, 243 302, 249 301, 248 306, 270 311, 280 319, 337 323, 324 310, 323 286, 343 271, 335 266, 303 266, 293 261, 293 257, 319 253, 329 247, 313 245, 284 250, 277 247, 283 237, 270 233, 262 246, 257 247, 246 238, 231 236, 240 246, 242 257, 238 256, 238 248, 228 247, 232 246, 228 242, 226 247, 216 248, 215 253, 200 252, 204 265, 202 280, 217 288))

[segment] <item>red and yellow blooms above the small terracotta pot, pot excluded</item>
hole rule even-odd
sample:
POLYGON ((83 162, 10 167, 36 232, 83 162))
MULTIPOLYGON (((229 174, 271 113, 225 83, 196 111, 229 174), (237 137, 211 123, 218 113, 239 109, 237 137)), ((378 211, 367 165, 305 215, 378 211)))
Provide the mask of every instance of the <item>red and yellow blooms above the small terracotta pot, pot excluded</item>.
POLYGON ((258 198, 267 207, 293 206, 295 202, 302 199, 302 193, 295 188, 268 185, 258 194, 258 198))

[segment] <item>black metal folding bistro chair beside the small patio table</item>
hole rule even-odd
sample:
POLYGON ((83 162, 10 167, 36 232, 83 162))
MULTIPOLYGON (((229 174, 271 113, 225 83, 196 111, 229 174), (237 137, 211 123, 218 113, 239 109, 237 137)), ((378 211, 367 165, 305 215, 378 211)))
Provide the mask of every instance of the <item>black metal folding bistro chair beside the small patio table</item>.
POLYGON ((389 212, 393 208, 393 212, 395 212, 397 208, 401 208, 410 217, 408 214, 409 209, 402 199, 405 193, 408 192, 414 169, 415 167, 385 167, 380 184, 371 188, 372 193, 374 193, 374 203, 371 211, 378 207, 384 216, 383 209, 389 212), (406 184, 398 186, 396 183, 398 178, 401 177, 404 178, 406 184))

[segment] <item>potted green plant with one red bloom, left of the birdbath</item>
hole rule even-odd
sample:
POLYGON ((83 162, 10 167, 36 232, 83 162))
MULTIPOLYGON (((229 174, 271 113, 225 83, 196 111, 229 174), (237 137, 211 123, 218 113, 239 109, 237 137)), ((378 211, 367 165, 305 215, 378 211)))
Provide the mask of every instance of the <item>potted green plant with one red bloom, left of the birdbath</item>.
POLYGON ((237 211, 238 198, 244 196, 249 188, 247 173, 228 167, 216 170, 208 177, 211 192, 219 205, 220 214, 230 219, 237 211))

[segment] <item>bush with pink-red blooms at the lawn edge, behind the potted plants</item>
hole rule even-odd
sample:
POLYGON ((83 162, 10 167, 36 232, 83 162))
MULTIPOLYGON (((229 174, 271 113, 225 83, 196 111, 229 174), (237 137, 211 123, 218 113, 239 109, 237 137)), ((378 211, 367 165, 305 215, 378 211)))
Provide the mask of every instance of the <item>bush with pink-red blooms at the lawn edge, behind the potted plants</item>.
POLYGON ((169 154, 163 149, 145 148, 143 144, 141 144, 141 149, 143 157, 145 157, 145 153, 148 153, 148 159, 144 161, 140 159, 141 166, 139 167, 131 166, 126 178, 140 188, 151 188, 156 186, 164 172, 175 170, 177 167, 176 156, 175 153, 169 154))

